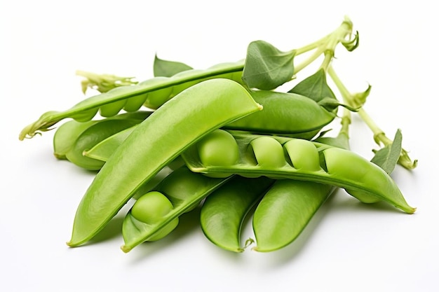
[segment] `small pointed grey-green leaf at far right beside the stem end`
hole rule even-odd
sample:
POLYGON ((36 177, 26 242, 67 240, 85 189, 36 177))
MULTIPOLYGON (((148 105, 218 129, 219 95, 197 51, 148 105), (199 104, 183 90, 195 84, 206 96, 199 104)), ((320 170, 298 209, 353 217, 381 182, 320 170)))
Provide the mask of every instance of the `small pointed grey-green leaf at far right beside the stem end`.
POLYGON ((398 129, 396 131, 395 138, 393 139, 393 143, 386 145, 378 151, 374 151, 375 155, 370 161, 384 169, 384 171, 388 174, 391 174, 393 169, 395 169, 396 163, 400 157, 402 144, 403 135, 398 129))

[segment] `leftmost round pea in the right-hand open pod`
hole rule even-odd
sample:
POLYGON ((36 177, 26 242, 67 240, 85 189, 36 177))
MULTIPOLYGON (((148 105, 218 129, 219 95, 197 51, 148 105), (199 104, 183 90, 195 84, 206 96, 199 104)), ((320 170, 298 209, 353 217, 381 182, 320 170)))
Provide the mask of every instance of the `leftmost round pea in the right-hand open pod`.
POLYGON ((207 134, 196 144, 200 160, 204 165, 234 165, 238 162, 238 144, 234 137, 224 130, 207 134))

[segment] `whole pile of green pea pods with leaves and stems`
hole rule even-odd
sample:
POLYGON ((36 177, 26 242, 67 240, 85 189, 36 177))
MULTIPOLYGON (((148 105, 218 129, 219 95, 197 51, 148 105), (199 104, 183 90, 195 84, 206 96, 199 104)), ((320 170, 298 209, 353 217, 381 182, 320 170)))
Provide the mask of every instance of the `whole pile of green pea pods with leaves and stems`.
POLYGON ((391 178, 396 164, 417 164, 400 131, 394 139, 375 136, 384 145, 372 160, 349 148, 351 114, 365 116, 370 88, 350 93, 331 62, 337 46, 358 45, 345 18, 302 48, 283 52, 253 41, 244 60, 204 70, 155 57, 154 78, 143 82, 81 71, 83 91, 97 95, 43 113, 20 133, 22 140, 55 129, 55 158, 96 173, 67 244, 88 242, 129 201, 124 252, 166 237, 196 208, 205 237, 220 248, 276 251, 294 242, 338 188, 371 208, 382 201, 414 213, 391 178), (316 72, 298 78, 322 55, 316 72), (337 121, 340 130, 330 136, 325 129, 337 121), (250 216, 255 238, 242 240, 250 216))

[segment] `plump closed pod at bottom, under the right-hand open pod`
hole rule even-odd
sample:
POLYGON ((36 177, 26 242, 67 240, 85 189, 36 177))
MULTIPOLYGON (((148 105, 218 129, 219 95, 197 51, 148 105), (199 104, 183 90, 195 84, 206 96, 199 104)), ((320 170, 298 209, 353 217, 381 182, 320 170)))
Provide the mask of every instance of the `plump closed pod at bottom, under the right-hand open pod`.
POLYGON ((255 251, 276 251, 292 243, 304 230, 316 211, 335 187, 279 179, 257 204, 252 226, 255 232, 255 251))

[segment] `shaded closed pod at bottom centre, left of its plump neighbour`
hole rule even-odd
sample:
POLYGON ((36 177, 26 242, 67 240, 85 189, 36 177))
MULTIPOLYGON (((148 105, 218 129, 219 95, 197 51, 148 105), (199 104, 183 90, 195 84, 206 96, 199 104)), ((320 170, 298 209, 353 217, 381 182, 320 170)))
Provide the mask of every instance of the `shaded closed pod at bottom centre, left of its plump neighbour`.
POLYGON ((205 237, 227 251, 242 252, 241 226, 250 209, 273 184, 264 176, 234 176, 210 194, 201 207, 200 223, 205 237))

